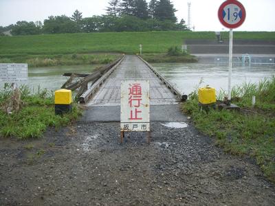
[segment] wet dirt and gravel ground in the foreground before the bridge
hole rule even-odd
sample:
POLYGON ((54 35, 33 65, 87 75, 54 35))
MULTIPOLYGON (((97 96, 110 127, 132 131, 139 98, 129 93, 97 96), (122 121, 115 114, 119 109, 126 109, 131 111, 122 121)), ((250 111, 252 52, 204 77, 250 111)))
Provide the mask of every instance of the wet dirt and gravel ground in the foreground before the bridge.
POLYGON ((0 205, 275 205, 275 186, 252 159, 209 137, 152 123, 78 122, 32 141, 0 139, 0 205))

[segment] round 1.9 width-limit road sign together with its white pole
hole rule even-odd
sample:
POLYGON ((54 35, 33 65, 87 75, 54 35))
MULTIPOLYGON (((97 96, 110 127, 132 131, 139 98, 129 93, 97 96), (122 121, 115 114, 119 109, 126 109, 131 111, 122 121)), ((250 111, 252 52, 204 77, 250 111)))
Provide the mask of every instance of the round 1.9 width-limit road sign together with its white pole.
POLYGON ((224 1, 219 7, 219 21, 230 29, 229 36, 229 65, 228 65, 228 100, 231 100, 231 78, 233 64, 233 29, 239 27, 245 21, 245 8, 243 4, 236 0, 224 1))

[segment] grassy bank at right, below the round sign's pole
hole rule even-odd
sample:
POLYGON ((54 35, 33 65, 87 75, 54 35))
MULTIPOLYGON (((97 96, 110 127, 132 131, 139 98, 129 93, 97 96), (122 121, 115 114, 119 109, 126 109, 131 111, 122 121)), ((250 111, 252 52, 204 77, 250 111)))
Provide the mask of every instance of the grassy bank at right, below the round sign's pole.
MULTIPOLYGON (((225 93, 220 93, 221 100, 225 93)), ((234 155, 250 155, 256 159, 265 175, 275 182, 275 77, 259 84, 243 84, 232 89, 234 104, 240 112, 200 111, 197 91, 182 105, 195 126, 234 155), (252 96, 256 104, 252 106, 252 96)))

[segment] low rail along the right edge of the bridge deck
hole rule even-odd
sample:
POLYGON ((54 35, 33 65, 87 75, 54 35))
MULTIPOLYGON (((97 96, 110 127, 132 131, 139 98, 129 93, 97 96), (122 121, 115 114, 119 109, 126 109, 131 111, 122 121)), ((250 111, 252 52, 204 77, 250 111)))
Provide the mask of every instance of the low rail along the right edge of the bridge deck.
POLYGON ((187 100, 188 95, 184 95, 184 93, 182 93, 179 89, 177 89, 175 85, 171 84, 168 80, 166 80, 164 76, 162 76, 158 71, 156 71, 154 67, 150 65, 148 62, 146 62, 146 60, 144 60, 141 56, 138 56, 138 58, 140 58, 140 60, 142 60, 145 63, 145 65, 147 65, 147 67, 149 67, 149 69, 151 69, 151 71, 155 73, 155 76, 157 76, 157 78, 159 78, 160 80, 162 80, 164 84, 166 84, 166 87, 170 89, 170 91, 172 91, 175 95, 177 95, 180 101, 187 100))

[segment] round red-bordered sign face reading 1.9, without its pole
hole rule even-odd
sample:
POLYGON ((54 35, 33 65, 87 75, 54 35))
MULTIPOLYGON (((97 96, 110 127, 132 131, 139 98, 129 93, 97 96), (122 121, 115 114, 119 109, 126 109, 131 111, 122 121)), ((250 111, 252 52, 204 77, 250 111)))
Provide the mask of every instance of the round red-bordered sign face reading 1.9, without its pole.
POLYGON ((225 27, 234 29, 245 21, 245 8, 236 0, 224 1, 219 7, 219 21, 225 27))

